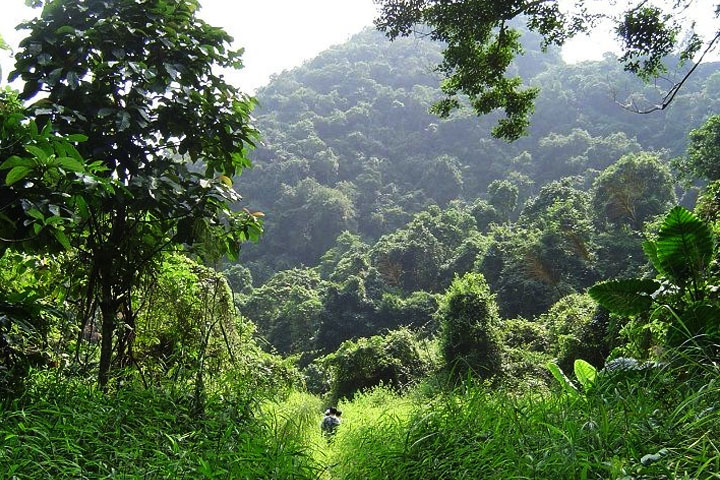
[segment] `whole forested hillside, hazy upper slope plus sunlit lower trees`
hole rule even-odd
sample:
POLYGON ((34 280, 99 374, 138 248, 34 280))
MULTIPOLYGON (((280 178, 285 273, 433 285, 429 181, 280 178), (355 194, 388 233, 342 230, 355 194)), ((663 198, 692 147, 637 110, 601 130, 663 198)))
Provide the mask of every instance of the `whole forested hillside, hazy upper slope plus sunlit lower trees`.
POLYGON ((275 348, 329 353, 402 325, 432 334, 437 294, 468 272, 504 317, 534 318, 645 268, 646 224, 694 203, 670 160, 717 108, 717 66, 673 109, 640 116, 615 92, 653 88, 616 58, 567 65, 538 43, 529 35, 516 65, 541 87, 537 112, 512 144, 490 137, 492 118, 427 112, 440 95, 427 40, 368 30, 258 93, 264 143, 238 189, 267 234, 228 274, 275 348))

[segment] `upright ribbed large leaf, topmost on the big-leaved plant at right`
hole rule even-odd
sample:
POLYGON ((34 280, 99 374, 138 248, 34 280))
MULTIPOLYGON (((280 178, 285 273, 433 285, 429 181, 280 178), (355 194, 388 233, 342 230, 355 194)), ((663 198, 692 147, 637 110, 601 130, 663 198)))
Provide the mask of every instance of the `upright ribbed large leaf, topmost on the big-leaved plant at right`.
POLYGON ((678 285, 705 271, 712 259, 713 246, 710 228, 683 207, 668 213, 655 242, 662 271, 678 285))

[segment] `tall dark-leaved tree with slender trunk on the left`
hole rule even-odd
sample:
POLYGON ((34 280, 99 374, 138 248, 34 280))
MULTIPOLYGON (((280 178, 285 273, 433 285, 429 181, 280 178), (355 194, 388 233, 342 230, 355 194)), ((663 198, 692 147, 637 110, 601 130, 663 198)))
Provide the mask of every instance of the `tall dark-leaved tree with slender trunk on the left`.
MULTIPOLYGON (((78 206, 82 232, 71 239, 91 265, 86 291, 102 315, 105 385, 116 334, 118 345, 132 339, 131 291, 161 252, 212 244, 202 252, 233 255, 259 235, 258 215, 229 208, 239 199, 231 178, 249 165, 253 101, 215 73, 240 67, 240 53, 197 18, 197 0, 43 5, 21 25, 29 33, 11 79, 25 82, 24 100, 42 93, 30 107, 38 122, 85 135, 81 155, 118 184, 78 206)), ((117 350, 118 365, 126 352, 117 350)))

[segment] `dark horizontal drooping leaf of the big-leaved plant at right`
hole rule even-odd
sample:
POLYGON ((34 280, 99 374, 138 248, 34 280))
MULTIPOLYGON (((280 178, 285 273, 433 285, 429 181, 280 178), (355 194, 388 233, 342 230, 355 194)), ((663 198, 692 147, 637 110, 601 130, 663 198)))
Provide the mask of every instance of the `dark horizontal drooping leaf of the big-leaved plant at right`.
POLYGON ((618 315, 638 315, 652 305, 652 294, 660 288, 655 280, 626 279, 598 283, 588 293, 603 307, 618 315))

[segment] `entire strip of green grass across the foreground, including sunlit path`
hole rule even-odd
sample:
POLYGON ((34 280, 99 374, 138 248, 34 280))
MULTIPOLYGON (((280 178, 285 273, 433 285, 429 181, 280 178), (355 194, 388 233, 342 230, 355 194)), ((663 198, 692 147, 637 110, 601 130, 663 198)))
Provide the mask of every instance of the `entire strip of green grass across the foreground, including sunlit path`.
POLYGON ((251 417, 228 402, 194 416, 156 391, 35 385, 0 412, 0 478, 720 478, 718 366, 600 377, 578 398, 471 382, 404 396, 378 387, 338 405, 329 440, 327 405, 307 393, 251 417))

